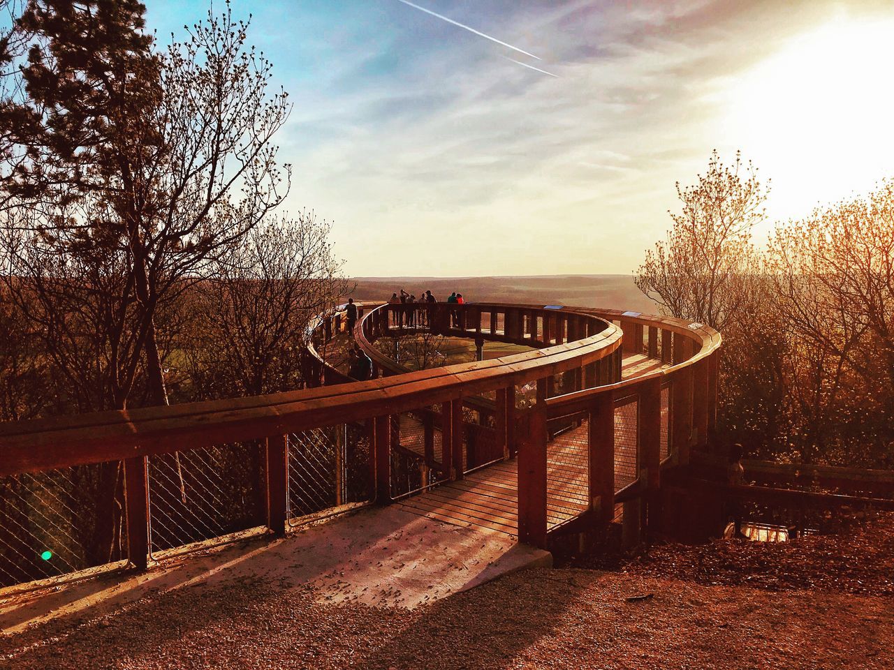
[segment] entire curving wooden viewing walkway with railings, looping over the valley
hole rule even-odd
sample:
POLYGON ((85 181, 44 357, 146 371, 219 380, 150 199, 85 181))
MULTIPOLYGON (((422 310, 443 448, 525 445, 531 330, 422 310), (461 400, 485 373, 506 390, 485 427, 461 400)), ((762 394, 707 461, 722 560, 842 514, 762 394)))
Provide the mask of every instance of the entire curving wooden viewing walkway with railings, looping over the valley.
MULTIPOLYGON (((28 520, 0 512, 13 529, 0 537, 7 594, 151 567, 108 596, 134 599, 176 565, 192 580, 288 572, 322 598, 369 604, 402 584, 406 602, 424 602, 544 565, 613 522, 638 537, 658 523, 648 501, 662 470, 704 449, 713 426, 721 338, 702 324, 490 303, 358 312, 353 331, 338 310, 313 323, 307 389, 0 425, 0 481, 28 520), (433 338, 468 339, 482 360, 410 370, 400 348, 433 338), (519 353, 484 360, 486 343, 519 353), (373 379, 347 375, 351 346, 373 379), (104 473, 121 482, 105 502, 66 506, 104 473), (97 519, 116 529, 102 556, 85 546, 97 519)), ((71 607, 85 583, 46 603, 11 597, 0 621, 64 612, 49 603, 71 607)))

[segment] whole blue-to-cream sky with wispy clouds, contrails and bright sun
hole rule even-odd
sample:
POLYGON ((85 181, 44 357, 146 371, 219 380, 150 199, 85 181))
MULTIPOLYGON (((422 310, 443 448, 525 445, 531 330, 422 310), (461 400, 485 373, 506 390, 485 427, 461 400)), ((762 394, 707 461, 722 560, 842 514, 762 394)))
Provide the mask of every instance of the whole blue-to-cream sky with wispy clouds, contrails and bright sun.
MULTIPOLYGON (((163 45, 209 7, 145 2, 163 45)), ((715 148, 771 182, 757 239, 894 176, 890 0, 412 4, 232 0, 351 276, 629 274, 715 148)))

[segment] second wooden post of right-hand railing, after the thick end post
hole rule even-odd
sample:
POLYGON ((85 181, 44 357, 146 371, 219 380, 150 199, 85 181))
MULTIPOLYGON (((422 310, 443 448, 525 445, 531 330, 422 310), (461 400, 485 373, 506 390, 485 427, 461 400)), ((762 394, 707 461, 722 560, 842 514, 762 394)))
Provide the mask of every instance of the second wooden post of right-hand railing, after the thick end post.
POLYGON ((590 507, 594 510, 596 527, 603 530, 614 518, 614 398, 611 391, 596 396, 587 425, 590 507))

